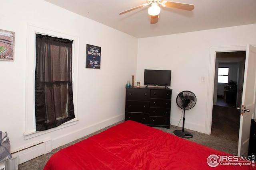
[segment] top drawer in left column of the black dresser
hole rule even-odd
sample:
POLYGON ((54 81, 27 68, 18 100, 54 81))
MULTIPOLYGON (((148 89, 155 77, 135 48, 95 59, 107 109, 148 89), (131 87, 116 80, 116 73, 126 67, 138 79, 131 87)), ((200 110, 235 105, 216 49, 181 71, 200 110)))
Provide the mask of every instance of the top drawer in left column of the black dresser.
POLYGON ((150 89, 126 88, 126 100, 150 101, 150 89))

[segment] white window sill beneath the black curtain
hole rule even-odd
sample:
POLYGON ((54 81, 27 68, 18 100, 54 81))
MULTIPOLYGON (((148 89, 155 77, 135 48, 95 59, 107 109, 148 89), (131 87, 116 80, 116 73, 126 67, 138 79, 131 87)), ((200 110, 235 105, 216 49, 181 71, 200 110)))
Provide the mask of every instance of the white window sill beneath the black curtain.
POLYGON ((59 125, 58 127, 55 127, 55 128, 52 128, 52 129, 48 129, 46 131, 35 131, 36 129, 34 129, 34 131, 29 131, 29 132, 25 132, 23 133, 24 135, 24 139, 27 140, 27 139, 31 139, 31 138, 34 138, 34 137, 37 137, 37 136, 40 136, 40 135, 44 135, 46 133, 50 133, 52 131, 56 131, 56 130, 59 130, 59 129, 62 129, 64 127, 68 127, 68 126, 72 126, 72 125, 75 125, 77 124, 79 121, 78 118, 74 118, 66 123, 63 123, 62 125, 59 125))

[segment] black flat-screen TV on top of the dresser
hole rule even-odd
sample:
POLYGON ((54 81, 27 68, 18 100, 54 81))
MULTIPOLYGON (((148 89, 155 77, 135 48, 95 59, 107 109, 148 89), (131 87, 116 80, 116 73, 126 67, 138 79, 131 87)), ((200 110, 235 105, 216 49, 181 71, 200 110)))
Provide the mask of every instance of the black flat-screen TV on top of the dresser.
POLYGON ((144 85, 170 86, 171 70, 145 70, 144 85))

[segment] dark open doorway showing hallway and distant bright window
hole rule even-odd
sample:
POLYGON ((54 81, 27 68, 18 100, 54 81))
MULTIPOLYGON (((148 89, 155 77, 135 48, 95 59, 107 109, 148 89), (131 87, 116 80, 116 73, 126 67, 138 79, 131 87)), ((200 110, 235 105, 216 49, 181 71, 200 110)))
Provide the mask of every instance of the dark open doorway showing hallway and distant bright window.
POLYGON ((246 51, 216 53, 211 135, 238 142, 246 51), (218 68, 228 69, 226 82, 218 82, 218 68))

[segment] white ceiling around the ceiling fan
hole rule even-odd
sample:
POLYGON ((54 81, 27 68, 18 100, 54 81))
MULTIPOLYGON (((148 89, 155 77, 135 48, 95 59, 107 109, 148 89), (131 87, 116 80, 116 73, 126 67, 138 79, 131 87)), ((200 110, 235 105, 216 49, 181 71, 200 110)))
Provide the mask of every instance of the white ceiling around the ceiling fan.
MULTIPOLYGON (((150 24, 148 7, 119 15, 146 0, 45 0, 137 38, 256 23, 256 0, 175 0, 193 4, 186 11, 161 7, 158 23, 150 24)), ((161 0, 162 2, 162 0, 161 0)))

